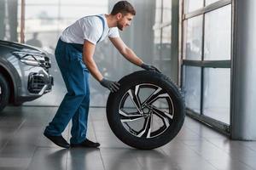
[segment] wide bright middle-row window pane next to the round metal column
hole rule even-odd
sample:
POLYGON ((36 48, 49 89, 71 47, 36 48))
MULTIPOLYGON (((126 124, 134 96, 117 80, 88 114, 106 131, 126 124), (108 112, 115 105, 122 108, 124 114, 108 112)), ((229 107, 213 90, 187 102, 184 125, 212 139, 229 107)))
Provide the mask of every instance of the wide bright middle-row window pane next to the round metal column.
POLYGON ((205 60, 230 59, 231 5, 206 14, 205 60))

